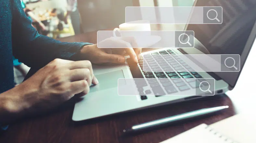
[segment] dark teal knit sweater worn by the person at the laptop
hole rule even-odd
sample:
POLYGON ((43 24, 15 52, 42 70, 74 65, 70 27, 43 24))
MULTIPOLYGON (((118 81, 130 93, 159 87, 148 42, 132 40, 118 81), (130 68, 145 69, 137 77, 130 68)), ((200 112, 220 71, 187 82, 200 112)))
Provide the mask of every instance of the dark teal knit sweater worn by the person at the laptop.
POLYGON ((33 68, 55 58, 71 59, 90 43, 67 43, 40 35, 24 13, 20 0, 0 1, 0 93, 14 87, 13 57, 33 68))

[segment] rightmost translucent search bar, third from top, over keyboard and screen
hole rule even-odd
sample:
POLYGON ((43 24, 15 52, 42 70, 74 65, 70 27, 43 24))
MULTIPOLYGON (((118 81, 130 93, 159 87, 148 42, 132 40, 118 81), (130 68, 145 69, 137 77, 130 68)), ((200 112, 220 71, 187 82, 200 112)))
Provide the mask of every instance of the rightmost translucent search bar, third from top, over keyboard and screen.
MULTIPOLYGON (((170 53, 171 52, 171 53, 170 53)), ((240 55, 143 55, 144 72, 239 72, 240 55)))

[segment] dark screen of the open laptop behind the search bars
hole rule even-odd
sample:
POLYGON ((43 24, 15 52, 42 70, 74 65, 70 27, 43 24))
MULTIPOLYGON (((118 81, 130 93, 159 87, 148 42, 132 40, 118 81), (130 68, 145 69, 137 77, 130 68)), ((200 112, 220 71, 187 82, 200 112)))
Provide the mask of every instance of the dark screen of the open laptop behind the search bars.
MULTIPOLYGON (((223 8, 222 24, 187 25, 186 30, 193 30, 195 37, 203 45, 195 48, 205 54, 239 54, 241 56, 256 21, 256 0, 197 0, 195 6, 223 8)), ((241 64, 242 62, 244 61, 241 61, 241 64)), ((217 73, 217 75, 220 74, 217 73)), ((226 78, 226 76, 221 77, 226 78)), ((224 80, 234 86, 237 79, 232 78, 224 80)))

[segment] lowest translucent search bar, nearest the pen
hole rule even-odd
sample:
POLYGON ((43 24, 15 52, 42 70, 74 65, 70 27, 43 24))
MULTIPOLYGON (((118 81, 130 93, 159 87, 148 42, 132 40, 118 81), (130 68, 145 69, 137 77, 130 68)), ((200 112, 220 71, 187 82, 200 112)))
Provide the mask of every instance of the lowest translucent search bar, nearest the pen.
POLYGON ((120 96, 194 96, 215 94, 214 78, 119 78, 120 96))

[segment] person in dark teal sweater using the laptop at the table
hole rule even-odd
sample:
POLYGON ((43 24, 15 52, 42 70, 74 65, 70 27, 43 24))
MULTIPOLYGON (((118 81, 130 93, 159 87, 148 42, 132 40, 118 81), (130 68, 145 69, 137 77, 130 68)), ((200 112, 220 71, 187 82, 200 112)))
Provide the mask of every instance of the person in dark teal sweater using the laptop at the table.
POLYGON ((27 115, 57 107, 75 95, 86 95, 92 84, 98 84, 92 63, 123 64, 124 56, 116 53, 124 50, 134 62, 140 57, 141 48, 131 48, 124 40, 114 42, 130 48, 113 50, 90 43, 60 42, 40 35, 32 27, 20 0, 0 1, 0 11, 0 129, 27 115), (16 87, 12 55, 19 62, 39 69, 16 87))

